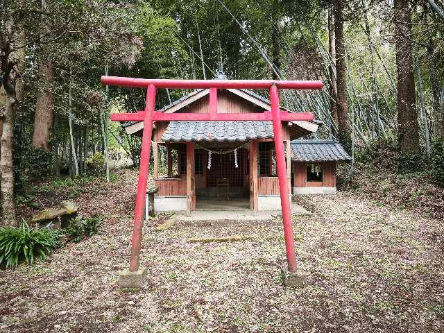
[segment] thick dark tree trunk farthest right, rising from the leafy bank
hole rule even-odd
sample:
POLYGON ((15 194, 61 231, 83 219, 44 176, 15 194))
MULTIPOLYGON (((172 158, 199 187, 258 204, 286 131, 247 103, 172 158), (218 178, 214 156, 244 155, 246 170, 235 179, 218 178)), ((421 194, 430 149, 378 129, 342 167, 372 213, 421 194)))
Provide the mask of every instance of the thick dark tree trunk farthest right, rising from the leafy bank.
POLYGON ((411 56, 409 0, 395 0, 395 51, 398 74, 398 143, 402 153, 420 151, 415 78, 411 56))

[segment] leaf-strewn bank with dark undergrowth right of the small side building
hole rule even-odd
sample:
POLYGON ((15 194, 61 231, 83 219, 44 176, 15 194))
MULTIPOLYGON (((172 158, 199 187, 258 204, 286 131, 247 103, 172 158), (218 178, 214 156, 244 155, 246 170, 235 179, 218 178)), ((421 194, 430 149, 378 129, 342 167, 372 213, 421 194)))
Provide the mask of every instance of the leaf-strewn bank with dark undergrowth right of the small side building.
POLYGON ((339 165, 338 187, 378 205, 444 219, 443 172, 443 140, 434 143, 429 156, 402 156, 395 142, 381 140, 357 150, 353 169, 339 165))

